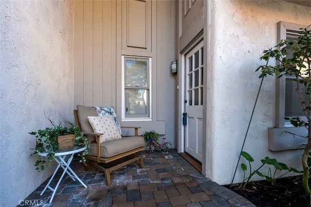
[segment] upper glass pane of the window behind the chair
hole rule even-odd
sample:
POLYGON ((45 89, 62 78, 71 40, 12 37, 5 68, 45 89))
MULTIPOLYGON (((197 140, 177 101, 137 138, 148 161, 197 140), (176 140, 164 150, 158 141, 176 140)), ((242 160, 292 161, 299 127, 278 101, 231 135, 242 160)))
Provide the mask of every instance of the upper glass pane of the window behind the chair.
POLYGON ((126 60, 125 86, 147 87, 148 85, 148 60, 126 60))

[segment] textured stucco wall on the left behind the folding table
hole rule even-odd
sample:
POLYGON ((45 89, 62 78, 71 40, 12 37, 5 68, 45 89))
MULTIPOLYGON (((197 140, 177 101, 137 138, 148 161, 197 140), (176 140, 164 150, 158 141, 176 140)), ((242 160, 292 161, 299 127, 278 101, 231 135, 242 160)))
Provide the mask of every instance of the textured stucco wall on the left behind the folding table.
POLYGON ((73 122, 73 2, 2 0, 0 42, 0 206, 13 207, 53 171, 35 171, 28 132, 55 110, 73 122))

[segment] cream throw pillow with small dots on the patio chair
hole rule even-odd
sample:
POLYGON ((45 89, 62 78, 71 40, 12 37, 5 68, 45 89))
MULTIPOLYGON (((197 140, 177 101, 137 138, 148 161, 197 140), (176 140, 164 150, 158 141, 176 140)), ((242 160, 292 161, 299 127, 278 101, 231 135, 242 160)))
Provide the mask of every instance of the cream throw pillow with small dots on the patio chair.
POLYGON ((94 132, 103 133, 101 143, 122 138, 113 116, 87 116, 87 120, 94 132))

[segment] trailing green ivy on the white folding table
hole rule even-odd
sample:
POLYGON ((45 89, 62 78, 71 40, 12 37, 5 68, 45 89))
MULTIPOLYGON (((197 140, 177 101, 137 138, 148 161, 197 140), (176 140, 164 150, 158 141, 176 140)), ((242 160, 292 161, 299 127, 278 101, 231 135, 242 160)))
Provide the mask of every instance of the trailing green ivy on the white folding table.
POLYGON ((51 123, 54 127, 47 127, 45 129, 39 129, 29 133, 35 135, 35 148, 31 148, 31 150, 34 151, 34 154, 44 152, 48 153, 48 156, 46 157, 38 156, 38 159, 35 162, 35 169, 40 172, 46 167, 51 166, 52 160, 55 159, 55 151, 59 149, 59 142, 61 142, 58 137, 64 135, 74 135, 74 144, 79 146, 86 146, 86 150, 81 153, 80 160, 80 162, 86 164, 85 156, 88 153, 87 148, 89 147, 89 142, 87 141, 84 134, 79 130, 79 128, 68 121, 64 121, 63 124, 59 123, 58 126, 54 125, 52 121, 51 123))

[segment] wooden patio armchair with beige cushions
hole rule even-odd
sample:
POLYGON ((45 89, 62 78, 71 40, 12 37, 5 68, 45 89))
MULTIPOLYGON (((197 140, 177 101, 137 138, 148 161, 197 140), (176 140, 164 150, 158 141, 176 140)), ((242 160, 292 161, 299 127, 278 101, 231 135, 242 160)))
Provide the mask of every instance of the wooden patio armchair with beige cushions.
POLYGON ((142 151, 145 146, 144 139, 141 136, 138 136, 138 128, 140 127, 123 127, 134 128, 135 136, 122 137, 121 139, 101 143, 101 135, 104 135, 104 133, 94 132, 87 118, 101 117, 98 116, 98 112, 94 107, 78 105, 77 110, 74 110, 74 117, 76 125, 85 134, 86 138, 90 142, 90 148, 88 149, 88 154, 86 156, 86 171, 89 168, 89 164, 99 170, 102 170, 106 177, 106 184, 109 186, 111 184, 110 173, 112 171, 138 160, 140 168, 144 167, 141 155, 135 155, 134 158, 132 158, 133 154, 142 151), (122 158, 126 157, 130 157, 130 159, 124 161, 122 158), (100 163, 109 163, 114 160, 121 160, 122 162, 108 168, 100 165, 100 163))

